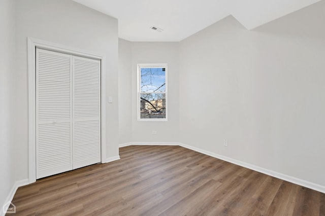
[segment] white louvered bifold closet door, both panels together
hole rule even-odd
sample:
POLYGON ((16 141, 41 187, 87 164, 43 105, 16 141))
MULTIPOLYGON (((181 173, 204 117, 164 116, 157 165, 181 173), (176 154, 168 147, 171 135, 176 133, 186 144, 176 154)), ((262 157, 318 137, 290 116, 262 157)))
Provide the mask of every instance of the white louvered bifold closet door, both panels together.
POLYGON ((36 49, 36 177, 101 161, 100 60, 36 49))

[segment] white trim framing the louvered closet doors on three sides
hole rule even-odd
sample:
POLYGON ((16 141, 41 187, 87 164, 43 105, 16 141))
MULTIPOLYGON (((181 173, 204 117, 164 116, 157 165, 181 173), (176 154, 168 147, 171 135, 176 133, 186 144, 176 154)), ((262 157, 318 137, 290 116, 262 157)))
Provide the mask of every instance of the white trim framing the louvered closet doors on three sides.
POLYGON ((101 162, 106 163, 106 57, 101 53, 27 38, 28 64, 28 181, 36 182, 36 48, 101 60, 101 162))

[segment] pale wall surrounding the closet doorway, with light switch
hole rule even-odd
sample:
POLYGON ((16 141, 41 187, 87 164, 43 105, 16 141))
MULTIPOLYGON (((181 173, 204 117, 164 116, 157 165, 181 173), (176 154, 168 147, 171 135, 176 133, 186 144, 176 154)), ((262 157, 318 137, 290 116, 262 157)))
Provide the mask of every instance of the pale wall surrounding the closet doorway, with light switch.
POLYGON ((65 0, 17 0, 15 88, 16 179, 28 178, 27 37, 106 55, 107 158, 118 155, 117 20, 65 0))

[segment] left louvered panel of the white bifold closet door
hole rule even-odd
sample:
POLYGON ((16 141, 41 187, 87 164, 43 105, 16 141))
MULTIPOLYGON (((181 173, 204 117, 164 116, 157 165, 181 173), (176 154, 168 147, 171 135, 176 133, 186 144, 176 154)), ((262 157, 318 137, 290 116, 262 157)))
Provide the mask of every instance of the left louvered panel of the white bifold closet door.
POLYGON ((72 169, 71 56, 37 49, 37 178, 72 169))

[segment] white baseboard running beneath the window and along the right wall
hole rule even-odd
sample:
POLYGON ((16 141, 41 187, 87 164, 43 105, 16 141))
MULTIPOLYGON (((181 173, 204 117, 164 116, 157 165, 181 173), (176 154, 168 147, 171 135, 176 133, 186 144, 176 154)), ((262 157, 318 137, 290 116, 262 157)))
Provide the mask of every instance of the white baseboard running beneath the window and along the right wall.
POLYGON ((290 175, 286 175, 286 174, 283 174, 283 173, 280 173, 280 172, 265 169, 263 167, 255 166, 253 164, 245 163, 243 161, 239 161, 239 160, 236 160, 236 159, 233 159, 233 158, 218 155, 218 154, 215 154, 213 152, 209 152, 209 151, 206 151, 206 150, 203 150, 203 149, 192 147, 192 146, 186 145, 186 144, 181 143, 181 142, 128 142, 128 143, 123 143, 123 144, 119 145, 119 147, 126 147, 126 146, 131 146, 131 145, 181 146, 181 147, 184 147, 186 149, 190 149, 190 150, 193 150, 193 151, 196 151, 196 152, 200 152, 202 154, 209 155, 211 157, 218 158, 220 160, 224 160, 224 161, 227 161, 227 162, 230 162, 230 163, 242 166, 242 167, 246 167, 248 169, 252 169, 252 170, 255 170, 257 172, 261 172, 261 173, 264 173, 264 174, 267 174, 267 175, 282 179, 282 180, 290 182, 290 183, 294 183, 296 185, 300 185, 300 186, 303 186, 303 187, 306 187, 306 188, 313 189, 315 191, 319 191, 321 193, 325 193, 325 186, 318 185, 318 184, 315 184, 315 183, 312 183, 312 182, 308 182, 308 181, 305 181, 303 179, 296 178, 296 177, 290 176, 290 175))

